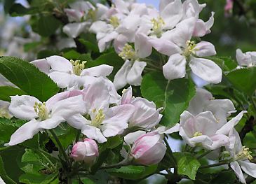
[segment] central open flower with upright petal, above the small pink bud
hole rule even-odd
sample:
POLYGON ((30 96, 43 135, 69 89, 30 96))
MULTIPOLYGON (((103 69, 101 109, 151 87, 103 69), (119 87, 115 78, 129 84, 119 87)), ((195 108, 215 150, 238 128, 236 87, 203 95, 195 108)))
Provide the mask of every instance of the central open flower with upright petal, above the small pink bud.
POLYGON ((134 106, 124 104, 109 108, 110 94, 102 80, 88 85, 83 92, 85 92, 83 99, 86 104, 86 113, 73 115, 67 122, 99 143, 107 141, 106 137, 122 134, 128 127, 128 120, 133 115, 134 106))

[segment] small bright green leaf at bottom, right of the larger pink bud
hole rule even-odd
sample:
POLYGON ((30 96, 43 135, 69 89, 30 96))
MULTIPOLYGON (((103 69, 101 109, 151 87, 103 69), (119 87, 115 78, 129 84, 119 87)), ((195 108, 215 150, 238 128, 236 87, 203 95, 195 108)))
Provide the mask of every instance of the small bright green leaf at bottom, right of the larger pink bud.
POLYGON ((200 162, 191 153, 173 153, 177 160, 177 173, 189 176, 191 180, 195 180, 196 172, 201 166, 200 162))

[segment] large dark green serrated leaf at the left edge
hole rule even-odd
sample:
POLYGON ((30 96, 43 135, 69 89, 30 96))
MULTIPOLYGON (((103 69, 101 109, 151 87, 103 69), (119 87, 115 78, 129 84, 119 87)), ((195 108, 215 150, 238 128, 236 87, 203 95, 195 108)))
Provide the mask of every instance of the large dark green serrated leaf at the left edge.
POLYGON ((46 101, 59 91, 58 86, 33 64, 16 57, 0 58, 0 73, 20 90, 46 101))

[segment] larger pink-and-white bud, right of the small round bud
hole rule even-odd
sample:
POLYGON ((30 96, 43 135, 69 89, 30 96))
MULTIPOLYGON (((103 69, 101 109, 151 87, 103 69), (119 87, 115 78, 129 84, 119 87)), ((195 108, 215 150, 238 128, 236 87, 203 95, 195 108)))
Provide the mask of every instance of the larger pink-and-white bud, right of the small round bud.
POLYGON ((137 164, 157 164, 166 154, 163 136, 158 132, 150 132, 140 136, 134 143, 131 155, 137 164))

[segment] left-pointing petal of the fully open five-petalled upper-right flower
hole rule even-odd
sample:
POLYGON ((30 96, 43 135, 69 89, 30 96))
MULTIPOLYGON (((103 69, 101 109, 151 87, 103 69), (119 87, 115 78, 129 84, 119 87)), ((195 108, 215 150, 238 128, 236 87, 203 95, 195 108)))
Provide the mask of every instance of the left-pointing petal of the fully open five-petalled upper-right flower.
POLYGON ((163 55, 175 55, 181 53, 182 50, 175 43, 163 38, 152 38, 149 40, 151 45, 163 55))

